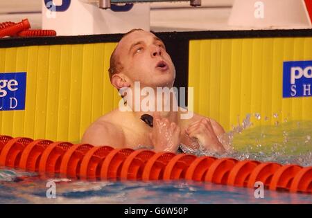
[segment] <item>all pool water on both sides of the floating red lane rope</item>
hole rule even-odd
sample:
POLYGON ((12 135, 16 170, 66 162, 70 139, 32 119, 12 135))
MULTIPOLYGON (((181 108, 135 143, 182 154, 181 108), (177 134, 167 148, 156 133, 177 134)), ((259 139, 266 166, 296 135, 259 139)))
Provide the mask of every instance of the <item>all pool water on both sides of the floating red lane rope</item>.
MULTIPOLYGON (((225 156, 302 166, 312 165, 312 121, 251 127, 250 116, 223 138, 225 156)), ((78 181, 42 179, 35 173, 0 168, 0 203, 312 203, 311 194, 254 190, 194 181, 78 181), (55 197, 46 197, 55 183, 55 197)))

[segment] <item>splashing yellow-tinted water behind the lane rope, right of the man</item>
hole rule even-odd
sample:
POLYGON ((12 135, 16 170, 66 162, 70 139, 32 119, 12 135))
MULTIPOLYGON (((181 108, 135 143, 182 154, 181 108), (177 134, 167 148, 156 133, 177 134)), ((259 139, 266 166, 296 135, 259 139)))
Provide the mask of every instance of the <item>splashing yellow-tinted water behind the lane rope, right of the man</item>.
MULTIPOLYGON (((257 120, 261 119, 255 113, 257 120)), ((273 114, 278 118, 277 113, 273 114)), ((234 126, 218 139, 226 149, 222 155, 207 151, 205 147, 191 149, 184 146, 183 151, 197 156, 232 157, 241 161, 252 159, 257 161, 273 161, 281 164, 312 165, 312 121, 286 121, 275 125, 253 127, 248 114, 239 125, 234 126), (252 127, 252 128, 251 128, 252 127)), ((264 120, 268 120, 267 117, 264 120)))

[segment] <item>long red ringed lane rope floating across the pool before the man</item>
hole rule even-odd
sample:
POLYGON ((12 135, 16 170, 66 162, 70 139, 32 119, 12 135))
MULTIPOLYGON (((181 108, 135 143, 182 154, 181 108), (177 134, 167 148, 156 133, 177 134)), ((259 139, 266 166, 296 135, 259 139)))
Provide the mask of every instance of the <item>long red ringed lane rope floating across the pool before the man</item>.
POLYGON ((312 166, 53 143, 23 137, 0 136, 0 166, 76 179, 187 179, 248 188, 261 181, 270 190, 312 193, 312 166))

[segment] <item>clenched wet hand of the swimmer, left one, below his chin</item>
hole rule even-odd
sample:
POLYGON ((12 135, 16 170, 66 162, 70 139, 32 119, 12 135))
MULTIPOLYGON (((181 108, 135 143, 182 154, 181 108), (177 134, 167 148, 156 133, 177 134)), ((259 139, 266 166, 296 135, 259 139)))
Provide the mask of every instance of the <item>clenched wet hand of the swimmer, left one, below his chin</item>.
POLYGON ((169 122, 167 118, 161 118, 159 112, 153 113, 153 131, 150 140, 155 152, 177 152, 180 145, 181 129, 175 122, 169 122))

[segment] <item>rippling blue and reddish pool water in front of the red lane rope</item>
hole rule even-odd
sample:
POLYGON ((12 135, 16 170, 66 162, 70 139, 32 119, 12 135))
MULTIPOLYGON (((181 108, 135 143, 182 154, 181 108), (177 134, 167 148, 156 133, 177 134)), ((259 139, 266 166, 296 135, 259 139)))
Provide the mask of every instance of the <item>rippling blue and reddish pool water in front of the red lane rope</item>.
POLYGON ((27 177, 1 181, 0 203, 312 203, 311 194, 264 190, 263 199, 256 199, 250 188, 192 181, 43 180, 12 170, 1 170, 0 178, 3 174, 27 177), (55 181, 55 199, 46 197, 47 181, 55 181))

